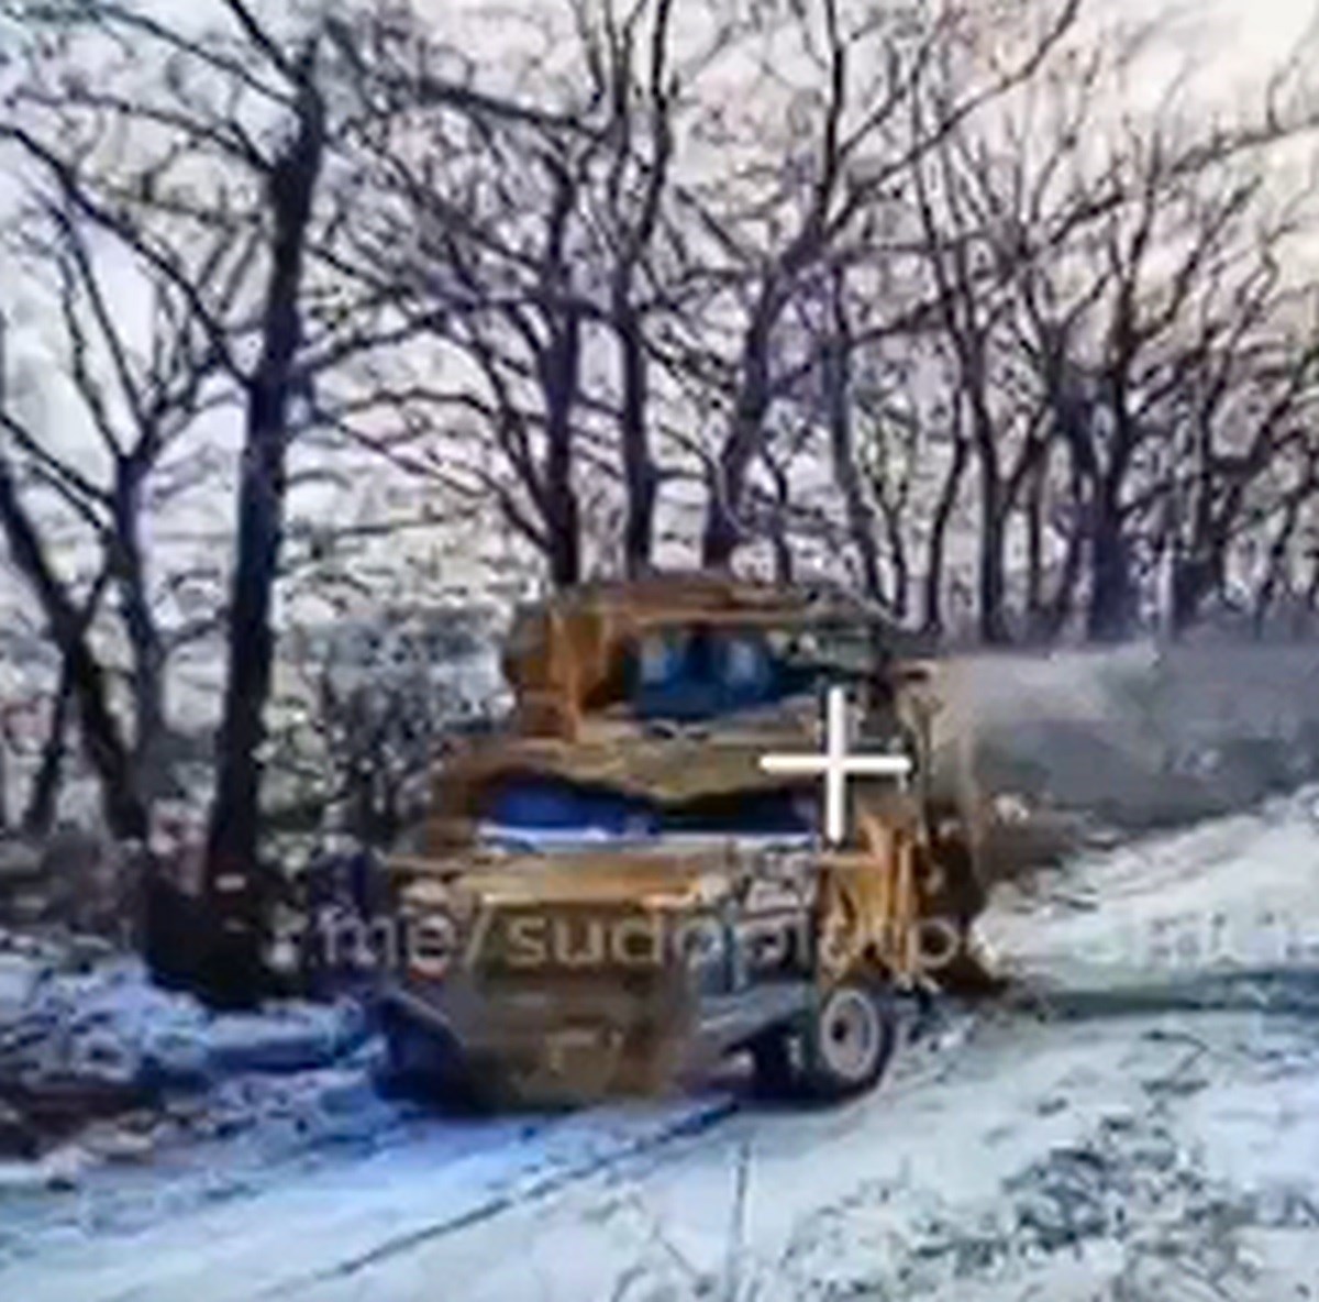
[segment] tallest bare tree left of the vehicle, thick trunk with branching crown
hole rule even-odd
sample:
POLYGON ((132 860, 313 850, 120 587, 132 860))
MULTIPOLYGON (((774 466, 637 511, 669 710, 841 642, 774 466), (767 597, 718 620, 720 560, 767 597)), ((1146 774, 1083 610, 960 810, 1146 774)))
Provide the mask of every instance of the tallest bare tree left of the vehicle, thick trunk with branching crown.
MULTIPOLYGON (((73 32, 102 55, 124 45, 146 51, 158 79, 140 84, 129 66, 123 78, 94 87, 77 75, 77 49, 70 54, 57 44, 51 63, 37 47, 15 96, 26 116, 0 127, 0 139, 15 142, 80 219, 117 237, 144 273, 177 297, 207 364, 241 400, 244 452, 207 883, 219 933, 233 937, 220 948, 228 946, 249 977, 260 930, 260 751, 274 644, 272 598, 295 404, 317 375, 372 347, 385 331, 379 314, 363 325, 346 307, 344 277, 335 276, 334 204, 327 201, 322 215, 317 203, 332 132, 323 41, 315 30, 290 36, 262 25, 243 0, 220 0, 218 15, 227 20, 223 30, 173 26, 131 5, 42 15, 63 22, 63 45, 73 32), (136 140, 137 149, 70 152, 70 140, 98 141, 106 125, 136 140), (215 247, 243 251, 226 297, 214 292, 219 269, 207 251, 215 247)), ((346 182, 335 191, 340 211, 350 189, 346 182)), ((149 449, 156 442, 148 435, 149 449)), ((125 474, 132 485, 132 472, 125 474)), ((131 570, 132 555, 117 559, 131 570)), ((86 726, 86 710, 80 715, 86 726)), ((219 971, 227 960, 220 954, 216 962, 219 971)), ((251 995, 249 981, 245 992, 237 988, 243 979, 232 984, 235 997, 251 995)))

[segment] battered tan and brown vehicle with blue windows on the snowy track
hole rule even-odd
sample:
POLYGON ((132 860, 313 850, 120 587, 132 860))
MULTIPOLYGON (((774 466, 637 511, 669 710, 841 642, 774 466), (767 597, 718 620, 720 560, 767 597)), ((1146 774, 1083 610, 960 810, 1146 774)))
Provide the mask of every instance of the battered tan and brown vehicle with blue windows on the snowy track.
POLYGON ((918 650, 839 592, 704 575, 524 612, 508 727, 456 749, 422 853, 390 864, 392 1075, 580 1099, 749 1050, 774 1091, 873 1086, 897 991, 987 980, 918 650), (822 777, 766 756, 823 755, 838 686, 853 752, 910 772, 852 778, 830 842, 822 777))

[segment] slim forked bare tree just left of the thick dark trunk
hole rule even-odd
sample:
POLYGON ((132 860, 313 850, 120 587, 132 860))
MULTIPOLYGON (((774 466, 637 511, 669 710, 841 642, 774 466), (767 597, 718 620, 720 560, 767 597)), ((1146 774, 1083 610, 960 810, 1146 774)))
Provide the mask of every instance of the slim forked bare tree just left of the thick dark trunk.
MULTIPOLYGON (((195 487, 193 475, 166 483, 157 471, 166 456, 177 455, 197 421, 228 396, 208 392, 214 348, 173 286, 138 286, 152 311, 146 335, 133 338, 127 314, 116 310, 106 269, 121 248, 109 237, 98 249, 96 233, 57 186, 53 194, 32 194, 12 235, 18 260, 50 282, 58 354, 95 446, 25 417, 17 402, 4 405, 0 423, 12 458, 90 532, 91 549, 103 555, 129 652, 133 785, 149 805, 168 780, 165 669, 171 636, 156 611, 142 518, 195 487)), ((235 243, 222 232, 202 264, 202 284, 216 311, 227 310, 243 280, 245 253, 235 251, 235 243)))

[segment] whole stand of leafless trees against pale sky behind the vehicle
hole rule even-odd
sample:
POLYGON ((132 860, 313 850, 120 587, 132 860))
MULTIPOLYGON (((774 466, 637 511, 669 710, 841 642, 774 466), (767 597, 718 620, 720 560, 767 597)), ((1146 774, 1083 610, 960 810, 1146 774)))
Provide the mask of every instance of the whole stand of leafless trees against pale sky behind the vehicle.
MULTIPOLYGON (((145 838, 202 658, 208 861, 255 861, 299 623, 504 573, 824 574, 987 644, 1303 636, 1311 61, 1211 109, 1178 22, 1120 17, 0 0, 4 826, 83 768, 145 838)), ((309 674, 303 766, 435 744, 410 681, 309 674)))

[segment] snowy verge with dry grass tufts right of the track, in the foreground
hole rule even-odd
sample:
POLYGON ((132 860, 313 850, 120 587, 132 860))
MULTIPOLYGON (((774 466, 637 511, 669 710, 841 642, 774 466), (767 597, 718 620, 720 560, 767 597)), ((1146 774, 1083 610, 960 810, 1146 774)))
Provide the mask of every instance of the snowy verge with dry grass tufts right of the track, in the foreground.
POLYGON ((551 1208, 324 1262, 277 1295, 423 1298, 462 1280, 464 1299, 1303 1297, 1319 1282, 1315 1047, 1223 1014, 1191 1033, 988 1026, 947 1079, 740 1116, 551 1208), (1265 1251, 1302 1235, 1294 1261, 1265 1251))

